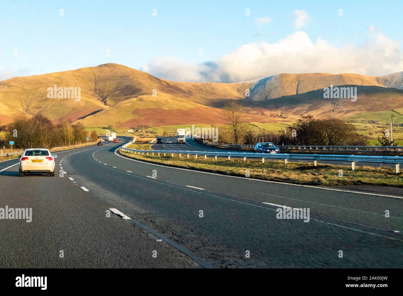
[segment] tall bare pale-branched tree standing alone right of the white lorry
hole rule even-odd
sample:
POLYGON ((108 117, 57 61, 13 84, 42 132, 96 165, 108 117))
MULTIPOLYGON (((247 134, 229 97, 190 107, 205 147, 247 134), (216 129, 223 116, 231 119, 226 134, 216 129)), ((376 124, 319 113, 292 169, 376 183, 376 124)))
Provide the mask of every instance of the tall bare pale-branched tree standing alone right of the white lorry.
POLYGON ((246 131, 243 106, 236 101, 229 101, 225 103, 223 110, 227 117, 229 130, 233 134, 234 143, 238 144, 246 131))

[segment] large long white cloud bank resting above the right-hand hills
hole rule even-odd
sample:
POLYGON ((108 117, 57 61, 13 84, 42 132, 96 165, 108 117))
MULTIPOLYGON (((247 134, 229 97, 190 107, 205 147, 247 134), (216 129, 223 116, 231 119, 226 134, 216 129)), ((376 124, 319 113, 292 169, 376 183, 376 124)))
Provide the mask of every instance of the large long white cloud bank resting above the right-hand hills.
POLYGON ((148 62, 142 68, 172 81, 238 82, 279 73, 359 73, 380 76, 403 70, 401 44, 370 31, 366 43, 336 47, 297 31, 274 43, 249 43, 218 60, 192 64, 176 58, 148 62), (388 55, 386 55, 386 52, 388 55))

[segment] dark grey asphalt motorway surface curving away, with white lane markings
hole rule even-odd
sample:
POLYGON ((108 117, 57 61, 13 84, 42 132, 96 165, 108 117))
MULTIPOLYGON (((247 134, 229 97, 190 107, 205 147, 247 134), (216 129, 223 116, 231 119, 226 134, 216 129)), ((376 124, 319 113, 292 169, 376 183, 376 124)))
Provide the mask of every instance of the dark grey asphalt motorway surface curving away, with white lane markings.
MULTIPOLYGON (((54 153, 63 177, 0 162, 0 208, 33 211, 30 223, 0 220, 0 267, 403 267, 403 193, 148 164, 119 155, 129 139, 118 139, 54 153), (309 208, 310 221, 277 219, 280 206, 309 208)), ((206 150, 190 145, 152 148, 206 150)))

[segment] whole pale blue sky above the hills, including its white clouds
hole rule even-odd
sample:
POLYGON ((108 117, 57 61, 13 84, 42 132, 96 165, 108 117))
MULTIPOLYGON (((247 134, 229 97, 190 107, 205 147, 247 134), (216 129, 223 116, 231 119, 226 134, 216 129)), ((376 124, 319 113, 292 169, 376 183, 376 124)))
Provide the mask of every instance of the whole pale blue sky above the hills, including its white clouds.
POLYGON ((108 62, 185 81, 310 69, 383 75, 403 70, 402 8, 399 0, 1 1, 0 80, 108 62), (299 14, 307 17, 298 25, 299 14))

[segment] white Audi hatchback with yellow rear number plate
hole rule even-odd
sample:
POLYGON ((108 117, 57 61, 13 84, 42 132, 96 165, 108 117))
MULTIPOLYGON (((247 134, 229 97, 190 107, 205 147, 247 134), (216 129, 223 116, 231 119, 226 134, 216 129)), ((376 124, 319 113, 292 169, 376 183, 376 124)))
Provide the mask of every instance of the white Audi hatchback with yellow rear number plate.
POLYGON ((57 155, 50 154, 48 149, 26 149, 20 158, 19 176, 29 173, 47 173, 54 176, 54 159, 57 155))

